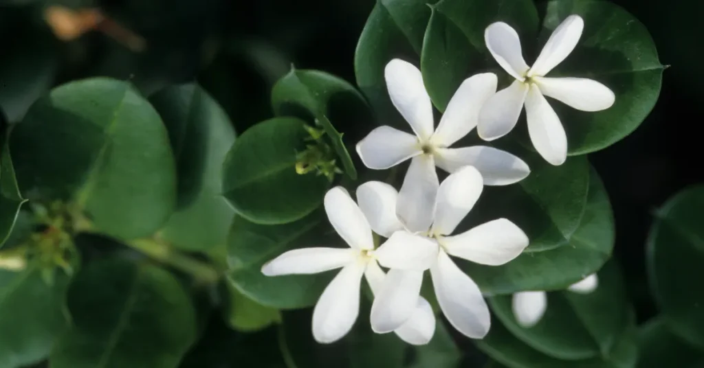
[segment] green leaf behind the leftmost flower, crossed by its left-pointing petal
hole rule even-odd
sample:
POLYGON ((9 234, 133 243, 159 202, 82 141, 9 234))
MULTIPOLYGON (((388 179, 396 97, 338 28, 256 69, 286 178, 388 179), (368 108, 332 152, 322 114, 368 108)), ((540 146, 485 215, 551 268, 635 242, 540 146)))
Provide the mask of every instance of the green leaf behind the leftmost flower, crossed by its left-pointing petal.
POLYGON ((261 225, 235 217, 228 244, 228 281, 251 300, 292 309, 315 304, 335 272, 269 277, 261 267, 287 250, 311 246, 347 246, 329 229, 322 210, 296 222, 261 225))

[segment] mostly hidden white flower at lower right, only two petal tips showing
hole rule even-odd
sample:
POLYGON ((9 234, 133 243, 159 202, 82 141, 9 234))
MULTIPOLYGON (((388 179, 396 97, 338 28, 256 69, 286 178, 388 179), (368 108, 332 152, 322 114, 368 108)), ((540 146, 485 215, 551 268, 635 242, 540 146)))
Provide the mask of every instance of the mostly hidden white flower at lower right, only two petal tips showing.
MULTIPOLYGON (((596 274, 590 274, 582 281, 570 285, 567 290, 588 294, 594 291, 596 286, 598 286, 598 278, 596 274)), ((526 328, 535 326, 545 314, 547 307, 548 295, 545 291, 520 291, 513 294, 511 300, 511 308, 516 321, 526 328)))

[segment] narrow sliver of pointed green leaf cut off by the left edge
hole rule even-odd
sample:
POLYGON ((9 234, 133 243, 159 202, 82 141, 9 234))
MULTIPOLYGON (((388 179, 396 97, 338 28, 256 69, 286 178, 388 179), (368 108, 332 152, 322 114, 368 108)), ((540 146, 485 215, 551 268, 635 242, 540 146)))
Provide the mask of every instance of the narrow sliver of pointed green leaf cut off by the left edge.
POLYGON ((27 201, 18 188, 10 146, 4 135, 4 132, 0 132, 0 248, 10 236, 20 208, 27 201))

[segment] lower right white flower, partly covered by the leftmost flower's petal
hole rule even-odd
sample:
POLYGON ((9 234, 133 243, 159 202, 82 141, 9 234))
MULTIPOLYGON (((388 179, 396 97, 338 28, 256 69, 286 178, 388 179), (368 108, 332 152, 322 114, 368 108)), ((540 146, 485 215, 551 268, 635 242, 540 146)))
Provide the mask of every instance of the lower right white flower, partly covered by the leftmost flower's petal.
MULTIPOLYGON (((528 238, 523 231, 506 219, 486 222, 462 234, 449 236, 472 209, 483 187, 482 175, 477 169, 471 166, 461 168, 440 184, 436 196, 432 198, 433 204, 425 208, 425 211, 405 214, 411 222, 428 224, 423 235, 396 231, 384 243, 388 250, 403 249, 406 257, 420 259, 427 255, 416 255, 416 252, 425 248, 410 248, 408 244, 415 242, 411 239, 432 239, 436 253, 430 273, 438 303, 455 329, 472 338, 482 338, 489 331, 489 308, 477 284, 455 265, 449 255, 482 265, 503 265, 520 255, 528 246, 528 238)), ((367 182, 358 189, 358 195, 362 194, 367 201, 360 201, 360 207, 369 208, 369 212, 374 212, 379 217, 372 221, 375 231, 403 227, 394 214, 401 196, 397 195, 392 186, 382 182, 367 182), (378 224, 378 227, 374 224, 378 224)), ((403 217, 404 214, 398 215, 403 217)), ((377 251, 377 255, 382 253, 381 249, 377 251)), ((391 267, 384 280, 382 293, 379 293, 372 305, 371 322, 375 332, 383 334, 394 331, 413 315, 410 306, 418 298, 422 273, 418 268, 391 267)))

